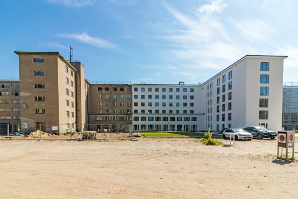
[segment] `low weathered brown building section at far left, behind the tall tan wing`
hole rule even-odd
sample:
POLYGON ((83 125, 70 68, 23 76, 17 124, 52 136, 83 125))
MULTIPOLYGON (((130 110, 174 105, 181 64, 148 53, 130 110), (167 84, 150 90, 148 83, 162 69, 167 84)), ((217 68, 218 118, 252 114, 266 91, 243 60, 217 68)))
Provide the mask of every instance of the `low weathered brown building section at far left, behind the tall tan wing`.
POLYGON ((0 133, 17 131, 20 124, 20 87, 19 81, 0 80, 0 133))

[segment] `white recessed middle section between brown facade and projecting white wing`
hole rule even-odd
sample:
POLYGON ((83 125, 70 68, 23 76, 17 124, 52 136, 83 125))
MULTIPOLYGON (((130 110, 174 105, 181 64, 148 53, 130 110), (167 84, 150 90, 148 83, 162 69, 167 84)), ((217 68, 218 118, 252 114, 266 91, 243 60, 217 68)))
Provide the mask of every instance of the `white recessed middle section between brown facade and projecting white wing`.
POLYGON ((133 84, 134 129, 156 131, 203 130, 199 85, 133 84), (198 128, 199 127, 199 128, 198 128))

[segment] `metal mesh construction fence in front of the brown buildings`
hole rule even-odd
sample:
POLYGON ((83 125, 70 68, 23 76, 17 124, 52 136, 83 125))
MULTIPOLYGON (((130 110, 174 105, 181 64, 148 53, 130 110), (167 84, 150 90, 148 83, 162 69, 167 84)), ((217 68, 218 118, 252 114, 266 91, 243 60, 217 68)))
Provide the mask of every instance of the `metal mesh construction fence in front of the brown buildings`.
POLYGON ((22 140, 129 140, 133 125, 110 124, 0 124, 0 139, 22 140))

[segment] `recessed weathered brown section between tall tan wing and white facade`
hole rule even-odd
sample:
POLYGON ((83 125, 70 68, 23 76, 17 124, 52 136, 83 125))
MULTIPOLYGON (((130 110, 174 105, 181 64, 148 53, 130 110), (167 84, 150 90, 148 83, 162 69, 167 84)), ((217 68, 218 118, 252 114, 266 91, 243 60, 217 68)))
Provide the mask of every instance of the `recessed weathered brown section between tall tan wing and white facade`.
POLYGON ((89 123, 96 129, 128 131, 132 124, 132 86, 128 84, 91 84, 89 123))

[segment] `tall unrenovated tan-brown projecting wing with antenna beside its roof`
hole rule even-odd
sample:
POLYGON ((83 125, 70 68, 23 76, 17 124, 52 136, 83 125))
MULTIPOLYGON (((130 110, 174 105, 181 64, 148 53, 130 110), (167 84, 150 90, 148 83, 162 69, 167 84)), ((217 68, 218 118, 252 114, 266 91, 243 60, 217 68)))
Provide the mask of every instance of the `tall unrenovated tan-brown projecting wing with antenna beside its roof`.
POLYGON ((85 124, 83 66, 79 64, 77 70, 58 52, 15 53, 19 55, 20 101, 26 104, 20 114, 22 128, 80 130, 85 124))

